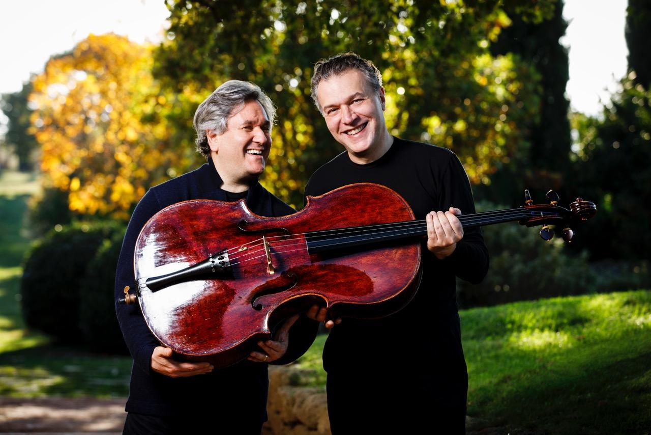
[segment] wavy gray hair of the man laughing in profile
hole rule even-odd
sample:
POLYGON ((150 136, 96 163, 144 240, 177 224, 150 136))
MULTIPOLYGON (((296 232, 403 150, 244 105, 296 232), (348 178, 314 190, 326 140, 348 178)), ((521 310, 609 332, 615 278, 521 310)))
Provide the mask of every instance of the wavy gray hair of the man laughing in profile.
POLYGON ((203 100, 193 121, 193 127, 197 131, 197 151, 202 155, 210 156, 210 146, 206 137, 206 130, 213 130, 217 134, 226 131, 229 117, 242 110, 247 101, 255 100, 260 103, 269 122, 273 125, 276 117, 276 108, 271 98, 260 89, 258 85, 242 80, 229 80, 223 83, 210 97, 203 100))

